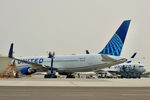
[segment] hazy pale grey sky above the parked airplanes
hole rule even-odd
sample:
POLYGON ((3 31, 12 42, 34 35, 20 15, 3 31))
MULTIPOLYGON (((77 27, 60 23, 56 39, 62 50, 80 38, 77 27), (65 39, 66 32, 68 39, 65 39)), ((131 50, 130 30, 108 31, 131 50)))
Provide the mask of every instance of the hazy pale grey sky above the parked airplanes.
POLYGON ((11 42, 15 56, 98 53, 127 19, 122 56, 150 70, 150 0, 0 0, 0 54, 11 42))

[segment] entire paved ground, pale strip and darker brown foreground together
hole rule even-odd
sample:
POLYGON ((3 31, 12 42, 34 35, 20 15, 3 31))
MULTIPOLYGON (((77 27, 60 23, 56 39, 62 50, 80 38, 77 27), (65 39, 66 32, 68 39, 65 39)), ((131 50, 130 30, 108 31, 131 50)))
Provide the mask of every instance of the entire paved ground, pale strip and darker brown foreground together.
POLYGON ((150 79, 0 79, 0 100, 149 100, 150 79))

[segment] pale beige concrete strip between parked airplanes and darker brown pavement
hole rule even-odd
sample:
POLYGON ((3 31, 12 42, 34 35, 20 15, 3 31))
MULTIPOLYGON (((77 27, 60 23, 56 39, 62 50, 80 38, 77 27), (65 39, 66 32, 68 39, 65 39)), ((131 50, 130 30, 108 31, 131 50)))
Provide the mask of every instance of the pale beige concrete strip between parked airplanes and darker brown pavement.
POLYGON ((141 79, 44 79, 42 75, 23 78, 1 78, 0 86, 50 87, 150 87, 150 78, 141 79))

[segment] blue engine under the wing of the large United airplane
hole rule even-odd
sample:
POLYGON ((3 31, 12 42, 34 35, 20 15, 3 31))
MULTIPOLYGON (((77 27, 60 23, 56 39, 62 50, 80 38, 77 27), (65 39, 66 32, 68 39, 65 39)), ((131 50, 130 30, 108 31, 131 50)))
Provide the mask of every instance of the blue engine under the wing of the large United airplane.
POLYGON ((20 69, 20 72, 24 75, 31 75, 31 74, 35 73, 36 70, 29 66, 24 66, 20 69))

